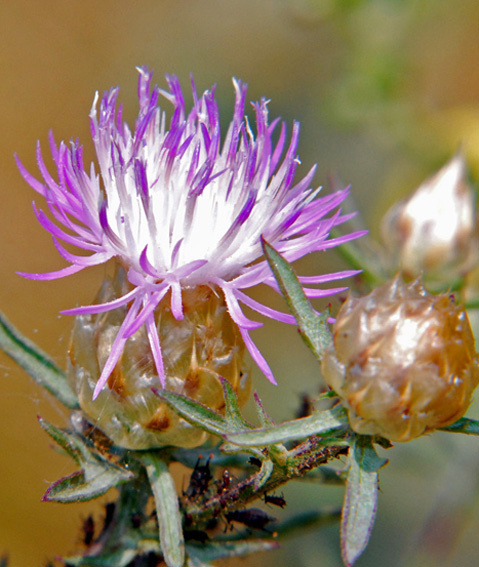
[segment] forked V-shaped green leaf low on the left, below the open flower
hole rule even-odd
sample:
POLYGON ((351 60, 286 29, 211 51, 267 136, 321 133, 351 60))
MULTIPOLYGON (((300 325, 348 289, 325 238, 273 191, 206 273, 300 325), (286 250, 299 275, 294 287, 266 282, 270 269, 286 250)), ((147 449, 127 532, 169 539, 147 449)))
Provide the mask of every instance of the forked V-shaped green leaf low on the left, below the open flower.
POLYGON ((130 471, 115 465, 91 449, 76 433, 58 429, 42 418, 40 425, 81 467, 50 485, 43 496, 46 502, 83 502, 105 494, 133 477, 130 471))

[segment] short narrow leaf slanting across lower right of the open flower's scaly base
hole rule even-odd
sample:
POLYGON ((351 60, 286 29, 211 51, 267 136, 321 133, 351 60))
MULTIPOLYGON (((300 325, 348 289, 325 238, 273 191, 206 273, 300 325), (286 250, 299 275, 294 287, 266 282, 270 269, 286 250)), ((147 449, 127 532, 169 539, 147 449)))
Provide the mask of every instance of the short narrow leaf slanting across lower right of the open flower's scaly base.
POLYGON ((154 391, 180 417, 193 423, 200 429, 220 437, 228 433, 229 429, 226 419, 203 404, 169 390, 155 388, 154 391))

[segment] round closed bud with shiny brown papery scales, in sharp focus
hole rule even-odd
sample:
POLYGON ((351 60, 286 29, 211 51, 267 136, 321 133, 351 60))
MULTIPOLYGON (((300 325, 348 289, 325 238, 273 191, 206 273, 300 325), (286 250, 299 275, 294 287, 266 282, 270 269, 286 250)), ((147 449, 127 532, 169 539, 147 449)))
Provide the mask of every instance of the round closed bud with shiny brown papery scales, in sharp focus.
POLYGON ((410 441, 466 412, 478 357, 466 312, 449 296, 396 278, 350 297, 333 330, 322 371, 357 433, 410 441))

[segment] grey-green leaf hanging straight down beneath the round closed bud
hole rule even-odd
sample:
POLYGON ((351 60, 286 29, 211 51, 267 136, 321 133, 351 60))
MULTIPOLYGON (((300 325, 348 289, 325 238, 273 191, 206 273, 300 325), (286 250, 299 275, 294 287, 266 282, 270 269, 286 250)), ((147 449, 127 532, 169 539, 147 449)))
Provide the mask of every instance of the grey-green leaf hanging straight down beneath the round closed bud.
POLYGON ((369 541, 377 509, 378 470, 387 463, 367 436, 356 436, 349 459, 341 518, 341 555, 346 567, 355 563, 369 541))

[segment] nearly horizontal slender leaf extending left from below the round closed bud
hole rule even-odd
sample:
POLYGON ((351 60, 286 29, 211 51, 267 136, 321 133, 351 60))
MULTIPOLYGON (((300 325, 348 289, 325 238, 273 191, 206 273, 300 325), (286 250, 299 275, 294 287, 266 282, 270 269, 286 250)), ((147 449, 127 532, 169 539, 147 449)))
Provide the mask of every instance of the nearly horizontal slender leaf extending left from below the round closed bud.
POLYGON ((264 427, 226 437, 231 443, 246 447, 260 447, 305 439, 310 435, 338 435, 348 429, 348 418, 342 408, 315 412, 313 415, 285 421, 274 427, 264 427))

